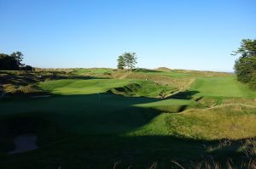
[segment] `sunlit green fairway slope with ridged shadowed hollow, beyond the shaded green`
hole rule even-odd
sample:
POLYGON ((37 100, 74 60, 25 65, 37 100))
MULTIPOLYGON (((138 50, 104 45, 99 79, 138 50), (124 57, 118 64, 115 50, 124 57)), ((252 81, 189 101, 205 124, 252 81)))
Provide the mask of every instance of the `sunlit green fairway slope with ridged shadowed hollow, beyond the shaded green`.
POLYGON ((161 91, 175 91, 174 87, 154 82, 130 79, 58 80, 38 85, 46 91, 57 94, 119 93, 126 96, 159 97, 161 91))

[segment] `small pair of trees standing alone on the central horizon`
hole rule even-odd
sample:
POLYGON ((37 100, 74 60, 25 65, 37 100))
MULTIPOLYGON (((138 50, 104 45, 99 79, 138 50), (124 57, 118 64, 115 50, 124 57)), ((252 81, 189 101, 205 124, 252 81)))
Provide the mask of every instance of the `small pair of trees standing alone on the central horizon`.
POLYGON ((137 64, 137 56, 136 53, 124 53, 119 56, 118 59, 118 68, 125 68, 133 69, 137 64))

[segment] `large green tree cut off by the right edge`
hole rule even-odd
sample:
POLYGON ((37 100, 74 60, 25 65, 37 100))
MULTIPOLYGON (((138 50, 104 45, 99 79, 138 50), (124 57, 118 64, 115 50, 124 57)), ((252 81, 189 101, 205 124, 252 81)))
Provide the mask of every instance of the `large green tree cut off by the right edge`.
POLYGON ((247 82, 256 89, 256 39, 241 40, 241 47, 232 55, 237 54, 240 54, 234 66, 237 80, 247 82))

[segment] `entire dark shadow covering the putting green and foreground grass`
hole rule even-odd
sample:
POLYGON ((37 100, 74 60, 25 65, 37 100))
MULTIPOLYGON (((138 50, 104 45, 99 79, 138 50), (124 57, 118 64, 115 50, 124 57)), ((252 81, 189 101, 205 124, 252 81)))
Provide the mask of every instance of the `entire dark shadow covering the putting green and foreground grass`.
MULTIPOLYGON (((247 160, 238 151, 246 140, 222 144, 224 140, 196 140, 178 134, 125 136, 161 113, 132 105, 155 101, 160 99, 109 93, 26 98, 22 103, 19 99, 4 101, 0 106, 8 113, 1 114, 0 146, 9 145, 9 135, 28 131, 38 133, 40 148, 20 155, 3 155, 0 168, 113 168, 115 162, 119 162, 119 168, 150 168, 154 162, 160 168, 172 168, 172 161, 190 168, 191 161, 212 158, 222 164, 231 158, 237 166, 247 160), (3 117, 12 120, 6 122, 3 117)), ((183 109, 185 105, 180 108, 183 109)))

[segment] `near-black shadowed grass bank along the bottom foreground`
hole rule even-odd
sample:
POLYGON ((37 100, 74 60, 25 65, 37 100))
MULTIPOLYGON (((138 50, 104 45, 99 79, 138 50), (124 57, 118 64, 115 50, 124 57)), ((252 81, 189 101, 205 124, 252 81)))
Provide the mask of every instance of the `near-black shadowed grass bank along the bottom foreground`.
MULTIPOLYGON (((117 135, 78 135, 70 134, 64 141, 20 155, 4 156, 0 159, 2 168, 150 168, 155 162, 160 168, 184 168, 201 161, 214 161, 225 168, 226 161, 232 159, 236 166, 253 159, 247 158, 237 149, 246 140, 237 140, 218 150, 218 141, 195 140, 175 136, 137 136, 117 135), (18 157, 18 158, 17 158, 18 157), (33 160, 31 160, 33 159, 33 160)), ((239 167, 240 168, 240 167, 239 167)), ((244 167, 245 168, 245 167, 244 167)))

